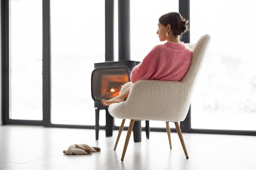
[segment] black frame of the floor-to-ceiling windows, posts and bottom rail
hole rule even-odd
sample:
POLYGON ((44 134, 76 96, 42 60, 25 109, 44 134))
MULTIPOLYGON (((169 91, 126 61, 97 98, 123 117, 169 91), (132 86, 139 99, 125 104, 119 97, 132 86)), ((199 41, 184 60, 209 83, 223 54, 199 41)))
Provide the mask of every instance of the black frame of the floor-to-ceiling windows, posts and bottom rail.
MULTIPOLYGON (((27 125, 43 125, 45 127, 62 127, 62 128, 83 128, 94 129, 90 125, 67 125, 67 124, 52 124, 51 123, 51 32, 50 32, 50 0, 42 0, 43 8, 43 120, 12 120, 9 118, 9 0, 1 0, 1 90, 2 90, 2 124, 27 124, 27 125)), ((105 31, 109 34, 108 39, 113 39, 113 10, 114 0, 105 0, 106 20, 108 27, 105 31), (111 17, 109 17, 111 16, 111 17), (110 37, 112 36, 112 37, 110 37)), ((190 0, 179 0, 179 12, 190 20, 190 0)), ((124 16, 125 17, 125 16, 124 16)), ((125 20, 123 18, 122 20, 125 20)), ((185 43, 190 43, 190 33, 187 32, 182 39, 185 43)), ((113 41, 113 40, 112 40, 113 41)), ((113 43, 112 43, 113 44, 113 43)), ((111 60, 113 46, 106 45, 107 60, 111 60), (110 58, 110 59, 108 59, 110 58)), ((192 105, 193 109, 193 105, 192 105)), ((183 122, 180 122, 180 127, 183 133, 207 133, 207 134, 229 134, 229 135, 256 135, 256 131, 242 130, 217 130, 217 129, 192 129, 191 128, 191 106, 189 113, 183 122)), ((100 126, 100 129, 105 129, 105 126, 100 126)), ((119 126, 114 126, 115 130, 119 126)), ((128 129, 125 127, 124 129, 128 129)), ((143 127, 142 130, 145 131, 143 127)), ((166 131, 165 128, 151 127, 150 131, 166 131)), ((171 128, 175 132, 176 129, 171 128)))

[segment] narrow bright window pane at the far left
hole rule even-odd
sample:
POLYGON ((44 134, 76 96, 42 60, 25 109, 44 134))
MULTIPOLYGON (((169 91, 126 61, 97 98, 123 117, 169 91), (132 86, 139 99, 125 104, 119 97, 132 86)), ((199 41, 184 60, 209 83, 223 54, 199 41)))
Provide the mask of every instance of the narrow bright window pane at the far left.
POLYGON ((9 118, 42 120, 42 0, 10 0, 9 9, 9 118))

